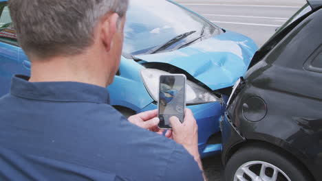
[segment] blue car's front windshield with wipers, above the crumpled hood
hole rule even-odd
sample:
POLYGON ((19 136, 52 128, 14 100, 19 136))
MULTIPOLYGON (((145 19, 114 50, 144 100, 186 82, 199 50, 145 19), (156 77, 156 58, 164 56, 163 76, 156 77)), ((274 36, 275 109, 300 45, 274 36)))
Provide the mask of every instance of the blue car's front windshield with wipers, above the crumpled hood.
POLYGON ((219 34, 219 31, 218 27, 171 1, 130 1, 122 54, 131 58, 138 54, 152 53, 151 49, 164 45, 173 38, 195 32, 162 48, 162 51, 170 51, 181 47, 178 45, 197 42, 193 40, 202 35, 198 40, 219 34))

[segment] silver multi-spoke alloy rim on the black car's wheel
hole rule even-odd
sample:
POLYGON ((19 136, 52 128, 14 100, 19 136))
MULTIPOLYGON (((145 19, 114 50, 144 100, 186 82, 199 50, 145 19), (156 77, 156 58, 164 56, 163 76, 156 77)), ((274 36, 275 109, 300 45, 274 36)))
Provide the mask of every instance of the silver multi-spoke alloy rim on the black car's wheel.
POLYGON ((234 181, 291 181, 279 167, 263 161, 250 161, 235 172, 234 181))

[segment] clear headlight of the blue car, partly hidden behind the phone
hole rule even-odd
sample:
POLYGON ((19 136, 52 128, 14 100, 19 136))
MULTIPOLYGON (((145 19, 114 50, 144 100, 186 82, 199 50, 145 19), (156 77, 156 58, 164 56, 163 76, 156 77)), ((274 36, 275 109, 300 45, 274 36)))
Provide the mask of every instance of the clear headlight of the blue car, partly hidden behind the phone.
MULTIPOLYGON (((158 101, 158 89, 160 75, 171 74, 158 69, 142 69, 141 77, 152 99, 158 101)), ((204 104, 219 101, 219 98, 202 86, 186 80, 186 104, 204 104)))

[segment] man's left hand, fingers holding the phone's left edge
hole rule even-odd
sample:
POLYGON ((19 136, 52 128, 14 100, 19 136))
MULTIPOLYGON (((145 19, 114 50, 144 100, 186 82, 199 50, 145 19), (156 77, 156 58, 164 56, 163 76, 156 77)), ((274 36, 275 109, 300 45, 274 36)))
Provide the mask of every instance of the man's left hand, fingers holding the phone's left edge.
POLYGON ((129 117, 129 121, 140 128, 156 132, 157 134, 163 134, 164 130, 158 128, 160 122, 158 118, 158 110, 149 110, 147 112, 141 112, 139 114, 129 117))

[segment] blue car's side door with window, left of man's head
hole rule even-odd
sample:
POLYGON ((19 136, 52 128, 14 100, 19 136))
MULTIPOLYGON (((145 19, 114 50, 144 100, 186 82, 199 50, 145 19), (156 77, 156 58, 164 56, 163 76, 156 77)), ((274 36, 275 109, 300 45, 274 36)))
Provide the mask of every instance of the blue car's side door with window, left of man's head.
POLYGON ((0 3, 0 97, 9 93, 12 75, 30 75, 30 62, 17 43, 6 3, 0 3))

